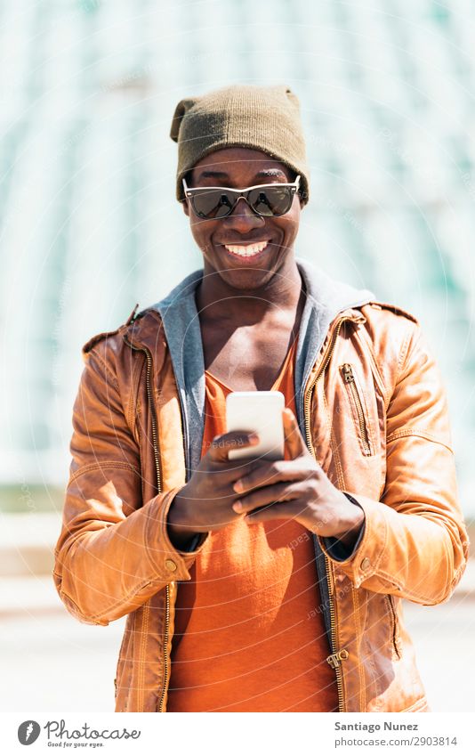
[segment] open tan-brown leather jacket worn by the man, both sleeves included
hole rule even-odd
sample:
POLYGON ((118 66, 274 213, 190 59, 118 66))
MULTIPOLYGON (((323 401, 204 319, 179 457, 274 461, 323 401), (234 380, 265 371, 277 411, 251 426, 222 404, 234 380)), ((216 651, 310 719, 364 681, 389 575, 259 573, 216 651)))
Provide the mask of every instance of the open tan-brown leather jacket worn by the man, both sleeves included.
MULTIPOLYGON (((167 536, 186 481, 181 401, 160 315, 133 315, 83 347, 53 578, 82 622, 128 615, 116 711, 165 711, 177 582, 205 541, 186 553, 167 536)), ((310 450, 366 515, 350 556, 315 539, 326 578, 315 611, 328 616, 340 710, 430 711, 401 598, 447 601, 469 544, 446 396, 419 324, 382 303, 338 313, 303 396, 310 450)))

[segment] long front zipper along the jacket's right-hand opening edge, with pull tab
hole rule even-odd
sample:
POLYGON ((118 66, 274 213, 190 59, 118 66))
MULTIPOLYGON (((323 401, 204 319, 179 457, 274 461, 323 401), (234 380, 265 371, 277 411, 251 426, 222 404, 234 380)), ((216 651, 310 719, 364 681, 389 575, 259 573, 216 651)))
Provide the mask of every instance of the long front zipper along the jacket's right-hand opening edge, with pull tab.
MULTIPOLYGON (((313 449, 313 445, 311 443, 311 432, 310 432, 311 393, 318 379, 322 376, 323 372, 325 371, 326 365, 328 364, 328 362, 330 362, 332 354, 334 353, 334 345, 336 344, 336 339, 338 338, 338 335, 340 333, 340 330, 342 328, 342 324, 344 323, 344 321, 358 322, 356 318, 345 315, 336 323, 336 326, 334 327, 333 335, 330 340, 330 345, 328 346, 328 349, 326 350, 326 354, 323 357, 322 362, 320 363, 320 367, 318 368, 315 378, 312 379, 310 386, 307 389, 307 392, 305 394, 305 398, 303 401, 306 441, 307 441, 307 446, 314 457, 316 457, 316 454, 315 454, 315 450, 313 449)), ((332 584, 330 580, 328 557, 326 557, 325 553, 324 553, 324 557, 325 557, 326 583, 328 586, 328 603, 330 606, 330 629, 331 629, 330 646, 332 649, 332 653, 326 657, 326 662, 335 671, 335 675, 336 675, 336 687, 338 690, 338 711, 346 711, 345 700, 344 700, 344 690, 343 690, 342 668, 341 668, 340 663, 344 659, 348 659, 348 651, 346 650, 346 648, 342 648, 341 650, 336 649, 336 621, 335 621, 335 612, 334 612, 334 599, 332 597, 332 584)))

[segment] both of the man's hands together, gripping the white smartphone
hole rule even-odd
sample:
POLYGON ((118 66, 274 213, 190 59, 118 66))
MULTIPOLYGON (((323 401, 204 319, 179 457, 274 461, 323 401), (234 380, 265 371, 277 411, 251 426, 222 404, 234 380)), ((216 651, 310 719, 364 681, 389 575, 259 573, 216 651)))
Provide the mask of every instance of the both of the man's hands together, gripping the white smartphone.
POLYGON ((228 451, 258 443, 233 431, 216 436, 189 483, 168 512, 168 532, 181 549, 197 532, 219 531, 245 516, 249 524, 295 519, 311 532, 334 536, 346 546, 357 540, 364 512, 330 482, 312 457, 292 411, 283 411, 291 459, 228 459, 228 451))

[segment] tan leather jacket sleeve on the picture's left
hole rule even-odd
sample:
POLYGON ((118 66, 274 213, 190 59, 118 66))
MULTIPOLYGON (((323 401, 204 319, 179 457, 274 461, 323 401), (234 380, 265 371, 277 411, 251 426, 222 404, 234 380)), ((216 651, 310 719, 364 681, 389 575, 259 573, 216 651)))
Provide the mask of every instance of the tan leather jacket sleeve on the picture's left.
POLYGON ((107 625, 170 581, 189 580, 189 553, 173 547, 166 516, 179 488, 141 500, 141 460, 104 350, 86 355, 73 409, 72 461, 53 581, 80 621, 107 625))

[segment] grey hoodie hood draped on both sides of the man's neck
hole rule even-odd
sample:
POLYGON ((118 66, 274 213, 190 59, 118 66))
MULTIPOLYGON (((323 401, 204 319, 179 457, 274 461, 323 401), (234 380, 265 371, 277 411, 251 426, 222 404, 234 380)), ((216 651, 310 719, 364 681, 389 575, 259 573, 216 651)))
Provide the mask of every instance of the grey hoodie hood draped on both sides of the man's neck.
MULTIPOLYGON (((298 422, 303 435, 303 392, 330 323, 338 313, 374 301, 368 289, 354 289, 334 280, 310 264, 296 258, 307 297, 299 329, 295 355, 295 398, 298 422)), ((201 459, 205 429, 205 361, 195 291, 203 270, 192 272, 166 297, 147 309, 160 314, 173 372, 180 395, 187 481, 201 459)))

